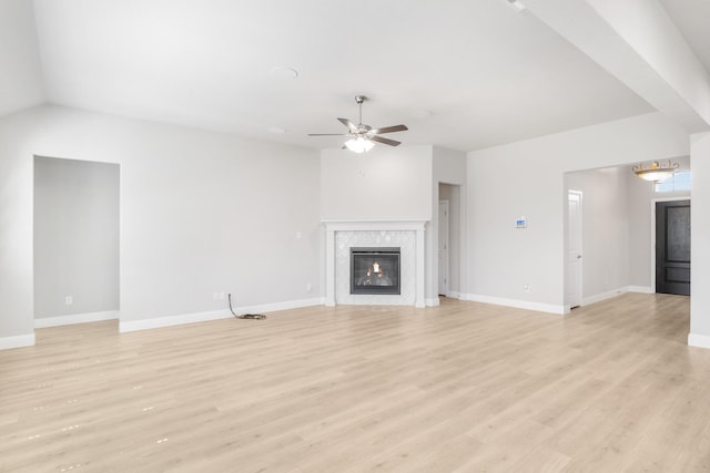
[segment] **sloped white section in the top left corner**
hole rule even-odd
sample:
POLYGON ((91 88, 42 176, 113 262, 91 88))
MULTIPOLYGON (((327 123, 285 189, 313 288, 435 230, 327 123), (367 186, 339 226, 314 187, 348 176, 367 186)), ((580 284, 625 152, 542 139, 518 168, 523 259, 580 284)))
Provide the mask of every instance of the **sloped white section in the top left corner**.
POLYGON ((0 116, 42 102, 43 90, 29 0, 0 0, 0 116))

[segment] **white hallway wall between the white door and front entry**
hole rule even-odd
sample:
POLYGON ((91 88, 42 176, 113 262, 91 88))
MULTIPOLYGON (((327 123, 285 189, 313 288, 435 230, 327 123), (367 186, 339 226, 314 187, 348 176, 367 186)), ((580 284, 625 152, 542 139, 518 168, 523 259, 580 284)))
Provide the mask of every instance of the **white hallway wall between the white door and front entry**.
POLYGON ((584 195, 582 304, 629 286, 628 173, 617 166, 567 176, 569 188, 584 195))

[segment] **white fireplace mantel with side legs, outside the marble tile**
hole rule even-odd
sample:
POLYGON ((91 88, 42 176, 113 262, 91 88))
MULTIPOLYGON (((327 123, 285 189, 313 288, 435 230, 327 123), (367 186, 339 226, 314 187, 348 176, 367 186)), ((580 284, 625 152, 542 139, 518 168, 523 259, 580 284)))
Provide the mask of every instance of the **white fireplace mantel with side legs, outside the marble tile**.
POLYGON ((338 232, 412 232, 415 236, 414 306, 424 308, 424 230, 426 220, 324 220, 325 226, 325 305, 336 305, 336 233, 338 232))

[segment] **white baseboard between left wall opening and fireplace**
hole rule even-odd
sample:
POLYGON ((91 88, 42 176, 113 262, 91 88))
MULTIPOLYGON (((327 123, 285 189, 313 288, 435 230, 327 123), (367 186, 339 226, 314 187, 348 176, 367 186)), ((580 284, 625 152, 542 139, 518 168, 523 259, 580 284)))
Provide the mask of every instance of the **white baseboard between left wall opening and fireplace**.
MULTIPOLYGON (((235 307, 237 316, 244 313, 276 312, 278 310, 300 309, 302 307, 322 306, 323 299, 303 299, 287 302, 264 304, 261 306, 235 307)), ((232 316, 229 310, 212 310, 207 312, 181 313, 178 316, 155 317, 152 319, 130 320, 119 322, 119 332, 156 329, 161 327, 180 326, 183 323, 205 322, 207 320, 227 319, 232 316)))

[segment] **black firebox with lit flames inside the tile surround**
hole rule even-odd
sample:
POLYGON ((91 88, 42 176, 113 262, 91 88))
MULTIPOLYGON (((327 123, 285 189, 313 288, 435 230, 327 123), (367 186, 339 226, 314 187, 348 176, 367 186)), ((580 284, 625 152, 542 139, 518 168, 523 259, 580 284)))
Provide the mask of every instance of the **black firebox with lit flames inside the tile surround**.
POLYGON ((400 294, 399 248, 351 248, 351 294, 400 294))

